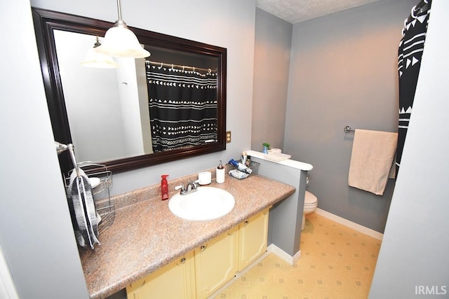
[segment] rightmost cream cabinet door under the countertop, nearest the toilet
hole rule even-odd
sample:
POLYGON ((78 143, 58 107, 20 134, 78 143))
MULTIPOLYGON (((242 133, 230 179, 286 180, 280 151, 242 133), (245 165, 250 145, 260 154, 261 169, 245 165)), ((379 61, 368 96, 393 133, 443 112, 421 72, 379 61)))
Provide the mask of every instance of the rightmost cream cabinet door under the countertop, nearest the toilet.
POLYGON ((268 214, 265 209, 239 225, 239 271, 267 251, 268 214))

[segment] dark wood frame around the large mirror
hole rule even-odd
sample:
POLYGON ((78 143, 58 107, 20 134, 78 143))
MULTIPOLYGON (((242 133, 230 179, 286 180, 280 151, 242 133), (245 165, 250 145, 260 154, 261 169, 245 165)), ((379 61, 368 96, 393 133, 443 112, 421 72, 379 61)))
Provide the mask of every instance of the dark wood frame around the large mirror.
MULTIPOLYGON (((81 34, 91 34, 93 36, 105 36, 107 29, 112 27, 112 22, 85 18, 67 13, 32 8, 34 28, 36 31, 36 41, 41 61, 41 71, 43 84, 46 92, 48 110, 51 117, 51 125, 55 141, 62 144, 72 143, 69 121, 65 106, 62 82, 59 73, 58 57, 56 55, 55 40, 53 30, 59 29, 67 32, 81 34)), ((129 27, 138 37, 140 43, 180 50, 187 53, 208 55, 217 58, 217 143, 194 146, 189 149, 173 150, 162 153, 151 153, 148 155, 138 155, 130 158, 121 158, 109 161, 96 161, 107 165, 112 172, 124 172, 140 167, 161 164, 184 158, 204 155, 226 149, 226 65, 227 50, 206 43, 199 43, 175 36, 150 32, 144 29, 129 27)), ((72 162, 68 153, 60 155, 60 165, 63 173, 72 169, 72 162)))

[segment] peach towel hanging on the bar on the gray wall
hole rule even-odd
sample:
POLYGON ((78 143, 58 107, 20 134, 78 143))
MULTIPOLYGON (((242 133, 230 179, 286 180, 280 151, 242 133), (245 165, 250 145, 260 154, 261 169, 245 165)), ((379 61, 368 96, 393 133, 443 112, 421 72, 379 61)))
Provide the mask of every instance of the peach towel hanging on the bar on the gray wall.
POLYGON ((394 162, 398 133, 356 130, 349 186, 383 195, 394 162))

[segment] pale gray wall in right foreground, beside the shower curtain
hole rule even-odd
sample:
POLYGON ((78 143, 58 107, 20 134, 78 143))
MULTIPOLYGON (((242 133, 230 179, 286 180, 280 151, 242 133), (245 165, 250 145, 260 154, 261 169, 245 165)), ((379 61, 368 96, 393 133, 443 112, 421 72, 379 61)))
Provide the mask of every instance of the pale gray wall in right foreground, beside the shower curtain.
POLYGON ((441 59, 449 48, 448 11, 449 1, 432 1, 413 116, 370 291, 373 299, 432 297, 417 295, 417 286, 448 298, 449 61, 441 59))

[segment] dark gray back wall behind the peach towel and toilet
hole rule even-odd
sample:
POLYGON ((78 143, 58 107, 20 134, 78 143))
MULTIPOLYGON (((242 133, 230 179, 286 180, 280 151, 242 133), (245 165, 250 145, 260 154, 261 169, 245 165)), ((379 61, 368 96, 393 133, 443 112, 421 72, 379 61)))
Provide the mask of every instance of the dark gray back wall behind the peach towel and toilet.
POLYGON ((415 0, 378 1, 293 26, 284 151, 314 165, 318 207, 384 231, 394 182, 383 196, 347 183, 354 133, 397 131, 397 52, 415 0))

